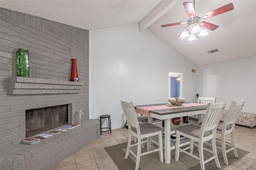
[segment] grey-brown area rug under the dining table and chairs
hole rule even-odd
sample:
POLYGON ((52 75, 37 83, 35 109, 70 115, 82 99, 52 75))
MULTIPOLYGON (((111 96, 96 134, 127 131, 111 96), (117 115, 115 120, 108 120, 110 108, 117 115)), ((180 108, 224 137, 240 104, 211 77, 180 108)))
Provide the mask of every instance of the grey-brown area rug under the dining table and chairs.
MULTIPOLYGON (((220 142, 217 142, 217 145, 220 146, 220 142)), ((210 146, 206 145, 205 147, 211 149, 210 146)), ((134 170, 136 166, 136 158, 129 153, 128 159, 124 159, 125 152, 127 148, 127 142, 122 144, 117 144, 114 146, 106 147, 105 150, 108 152, 109 156, 112 158, 116 166, 119 170, 134 170)), ((229 147, 227 146, 227 149, 229 147)), ((239 158, 242 158, 244 155, 249 152, 236 148, 238 152, 239 158)), ((137 146, 132 147, 132 151, 137 153, 137 146)), ((142 148, 142 152, 146 151, 146 147, 142 148)), ((220 169, 226 168, 228 165, 224 164, 222 152, 220 149, 217 149, 218 159, 220 161, 220 169)), ((199 156, 197 152, 197 147, 194 146, 194 152, 196 156, 199 156)), ((204 160, 210 158, 212 154, 204 150, 204 160)), ((234 152, 230 151, 227 154, 228 163, 232 164, 239 158, 234 156, 234 152)), ((140 169, 141 170, 160 170, 160 169, 175 169, 175 170, 200 170, 200 162, 199 160, 185 154, 184 152, 180 152, 179 161, 175 161, 175 150, 171 151, 171 163, 166 164, 165 162, 160 162, 159 152, 153 152, 151 154, 146 154, 140 157, 140 169)), ((205 164, 206 170, 220 170, 217 168, 215 161, 211 160, 210 162, 205 164)))

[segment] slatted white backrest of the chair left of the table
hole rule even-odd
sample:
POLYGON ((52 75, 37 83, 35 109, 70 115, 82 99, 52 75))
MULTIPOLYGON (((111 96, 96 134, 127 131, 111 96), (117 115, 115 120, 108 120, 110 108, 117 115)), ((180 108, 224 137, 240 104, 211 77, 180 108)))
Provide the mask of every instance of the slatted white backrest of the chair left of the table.
POLYGON ((132 102, 128 103, 121 100, 122 109, 126 117, 128 127, 132 126, 137 128, 137 133, 140 133, 139 121, 137 118, 137 113, 135 112, 134 105, 132 102))

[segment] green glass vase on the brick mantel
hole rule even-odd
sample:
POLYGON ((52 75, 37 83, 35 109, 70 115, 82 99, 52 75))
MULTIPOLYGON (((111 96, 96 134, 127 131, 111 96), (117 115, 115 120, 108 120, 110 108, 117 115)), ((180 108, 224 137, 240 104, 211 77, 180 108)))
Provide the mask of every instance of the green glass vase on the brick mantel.
POLYGON ((29 53, 27 49, 19 48, 16 52, 17 76, 29 77, 29 53))

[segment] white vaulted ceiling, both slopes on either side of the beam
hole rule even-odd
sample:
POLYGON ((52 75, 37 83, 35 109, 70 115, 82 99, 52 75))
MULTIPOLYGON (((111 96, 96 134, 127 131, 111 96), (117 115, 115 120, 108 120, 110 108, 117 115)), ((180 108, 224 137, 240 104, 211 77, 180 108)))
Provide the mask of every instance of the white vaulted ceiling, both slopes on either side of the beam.
POLYGON ((139 23, 146 16, 162 12, 148 28, 198 66, 256 55, 255 0, 196 0, 197 16, 228 3, 234 4, 234 10, 205 20, 219 28, 207 30, 207 36, 192 42, 178 38, 186 24, 160 27, 189 19, 183 2, 186 1, 170 1, 174 5, 165 12, 159 10, 161 0, 1 0, 0 6, 86 30, 139 23), (219 52, 206 52, 212 49, 219 52))

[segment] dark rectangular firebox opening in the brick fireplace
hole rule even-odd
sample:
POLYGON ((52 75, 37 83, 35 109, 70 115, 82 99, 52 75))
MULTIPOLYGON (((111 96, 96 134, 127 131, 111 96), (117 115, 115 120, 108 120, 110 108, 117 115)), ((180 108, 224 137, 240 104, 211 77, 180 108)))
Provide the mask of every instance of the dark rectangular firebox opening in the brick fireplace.
POLYGON ((68 105, 26 110, 26 137, 68 124, 68 105))

